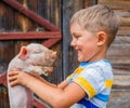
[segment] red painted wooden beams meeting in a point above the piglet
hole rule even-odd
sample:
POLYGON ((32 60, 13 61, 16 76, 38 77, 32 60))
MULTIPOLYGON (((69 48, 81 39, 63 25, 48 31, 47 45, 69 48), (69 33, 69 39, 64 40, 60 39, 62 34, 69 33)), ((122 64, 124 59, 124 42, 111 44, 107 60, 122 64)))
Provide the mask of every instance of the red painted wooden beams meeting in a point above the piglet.
POLYGON ((62 37, 60 29, 56 28, 51 23, 49 23, 47 19, 38 16, 32 11, 25 9, 21 3, 18 3, 15 0, 2 0, 2 1, 51 31, 1 32, 0 40, 48 39, 46 42, 43 42, 43 44, 48 48, 51 48, 53 44, 60 41, 62 37))

